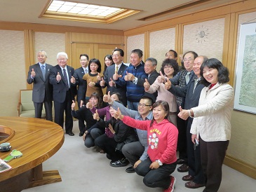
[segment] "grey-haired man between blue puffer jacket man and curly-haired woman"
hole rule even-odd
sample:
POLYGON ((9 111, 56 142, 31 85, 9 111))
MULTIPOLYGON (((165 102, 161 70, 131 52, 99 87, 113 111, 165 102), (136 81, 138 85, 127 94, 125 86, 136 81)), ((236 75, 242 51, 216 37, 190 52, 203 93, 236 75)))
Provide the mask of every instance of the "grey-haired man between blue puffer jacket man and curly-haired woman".
MULTIPOLYGON (((148 81, 149 85, 152 85, 156 81, 156 78, 160 75, 156 71, 156 64, 157 64, 157 60, 153 57, 149 57, 145 61, 144 70, 145 70, 146 74, 148 74, 147 81, 148 81)), ((145 79, 142 79, 142 78, 137 79, 137 85, 142 86, 142 85, 144 85, 144 83, 145 83, 145 79)), ((145 92, 143 96, 147 96, 147 97, 151 98, 154 103, 154 102, 156 102, 157 91, 154 92, 153 94, 151 94, 149 92, 145 92)))

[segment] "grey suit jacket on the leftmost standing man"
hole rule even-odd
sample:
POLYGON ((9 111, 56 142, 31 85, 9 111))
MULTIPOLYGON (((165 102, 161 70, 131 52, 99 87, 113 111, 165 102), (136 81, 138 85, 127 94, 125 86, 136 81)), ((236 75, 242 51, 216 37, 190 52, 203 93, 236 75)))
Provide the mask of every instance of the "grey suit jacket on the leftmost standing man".
POLYGON ((33 92, 32 92, 32 101, 33 102, 43 102, 46 98, 46 101, 53 101, 53 85, 49 83, 49 74, 50 68, 53 66, 50 64, 46 64, 46 77, 43 79, 43 74, 41 71, 41 67, 39 63, 33 64, 29 67, 29 71, 27 73, 27 83, 33 83, 33 92), (34 69, 36 72, 36 76, 31 78, 31 71, 34 69))

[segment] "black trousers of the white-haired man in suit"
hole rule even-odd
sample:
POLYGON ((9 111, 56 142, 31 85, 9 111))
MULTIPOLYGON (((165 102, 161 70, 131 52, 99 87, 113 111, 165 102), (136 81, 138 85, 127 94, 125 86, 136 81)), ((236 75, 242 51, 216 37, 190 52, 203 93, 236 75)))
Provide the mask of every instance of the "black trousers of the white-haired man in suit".
POLYGON ((66 114, 65 117, 65 129, 66 132, 72 132, 73 129, 73 118, 71 114, 71 105, 72 105, 72 96, 70 90, 66 92, 65 101, 62 103, 54 102, 54 110, 55 110, 55 123, 60 125, 63 128, 64 125, 64 111, 66 114))

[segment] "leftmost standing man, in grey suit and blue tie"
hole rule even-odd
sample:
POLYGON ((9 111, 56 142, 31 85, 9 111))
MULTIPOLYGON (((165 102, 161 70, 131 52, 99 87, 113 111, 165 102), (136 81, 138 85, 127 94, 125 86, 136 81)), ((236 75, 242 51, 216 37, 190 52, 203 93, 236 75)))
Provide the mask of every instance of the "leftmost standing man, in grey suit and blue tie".
POLYGON ((36 64, 29 67, 27 83, 33 83, 32 101, 34 102, 35 118, 41 118, 43 104, 46 109, 46 120, 53 121, 53 85, 49 83, 50 64, 46 64, 46 52, 37 53, 36 64))

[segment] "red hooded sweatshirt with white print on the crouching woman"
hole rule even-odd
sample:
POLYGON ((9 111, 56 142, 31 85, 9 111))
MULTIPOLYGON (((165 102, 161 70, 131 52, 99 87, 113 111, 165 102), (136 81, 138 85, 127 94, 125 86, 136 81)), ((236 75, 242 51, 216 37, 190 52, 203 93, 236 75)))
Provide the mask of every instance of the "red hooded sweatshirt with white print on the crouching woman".
POLYGON ((150 127, 151 120, 138 121, 129 116, 123 116, 123 123, 132 128, 147 130, 149 148, 147 154, 152 162, 160 160, 162 163, 175 163, 177 149, 178 130, 168 120, 154 123, 150 127))

